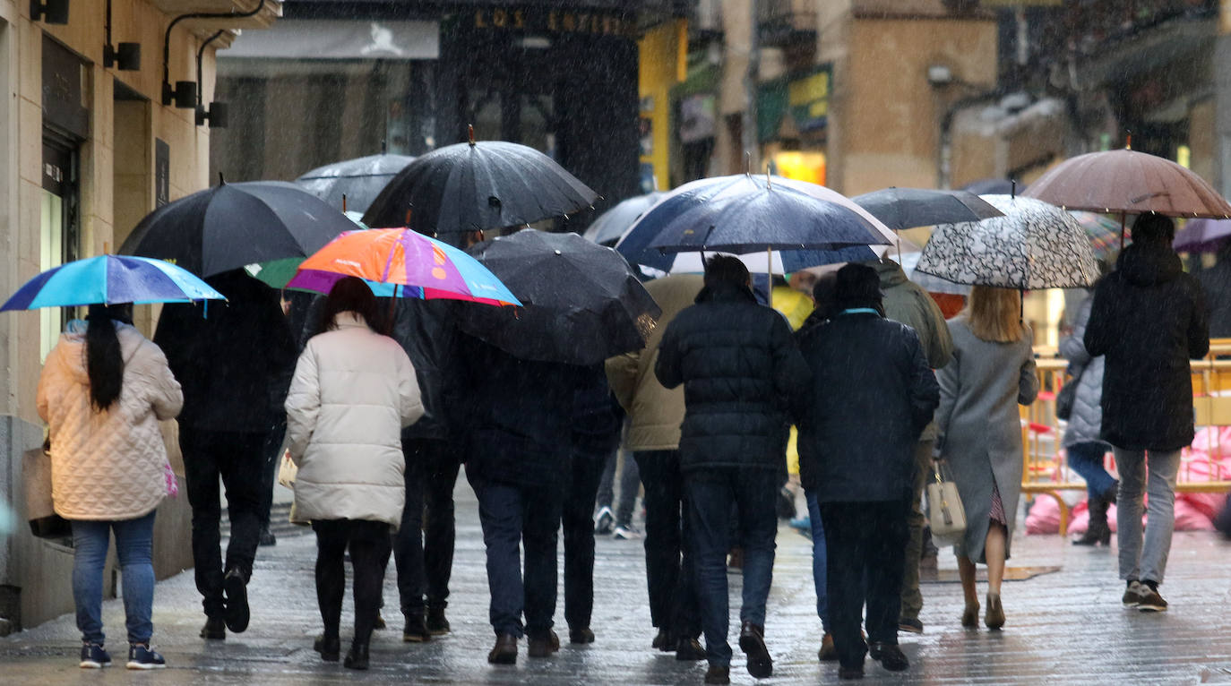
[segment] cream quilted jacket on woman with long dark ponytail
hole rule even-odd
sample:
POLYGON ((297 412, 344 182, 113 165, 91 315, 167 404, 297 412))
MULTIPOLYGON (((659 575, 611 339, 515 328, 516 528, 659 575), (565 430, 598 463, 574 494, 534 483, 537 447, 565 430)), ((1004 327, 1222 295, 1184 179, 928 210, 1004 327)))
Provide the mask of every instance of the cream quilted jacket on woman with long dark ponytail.
POLYGON ((70 326, 38 378, 38 416, 50 426, 52 500, 68 520, 130 520, 166 496, 166 446, 158 420, 183 405, 166 356, 127 324, 116 324, 124 358, 119 399, 90 406, 85 328, 70 326))

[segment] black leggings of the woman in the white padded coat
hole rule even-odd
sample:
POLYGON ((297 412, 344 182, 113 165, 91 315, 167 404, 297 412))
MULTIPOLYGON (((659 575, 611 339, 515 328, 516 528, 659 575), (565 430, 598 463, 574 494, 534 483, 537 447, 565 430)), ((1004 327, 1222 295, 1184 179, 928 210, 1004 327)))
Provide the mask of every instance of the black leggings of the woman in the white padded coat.
POLYGON ((368 520, 316 520, 316 602, 325 634, 337 636, 346 591, 343 555, 351 549, 355 574, 355 643, 367 643, 380 608, 380 586, 389 559, 389 525, 368 520))

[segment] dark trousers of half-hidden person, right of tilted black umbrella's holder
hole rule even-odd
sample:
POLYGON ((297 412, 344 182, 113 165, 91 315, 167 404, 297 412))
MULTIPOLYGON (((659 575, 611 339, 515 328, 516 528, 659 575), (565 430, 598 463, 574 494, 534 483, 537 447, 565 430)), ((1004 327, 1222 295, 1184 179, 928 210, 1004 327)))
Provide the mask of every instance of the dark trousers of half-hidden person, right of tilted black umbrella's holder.
POLYGON ((572 453, 571 480, 560 512, 564 530, 564 618, 569 628, 590 627, 595 608, 595 494, 602 454, 572 453))

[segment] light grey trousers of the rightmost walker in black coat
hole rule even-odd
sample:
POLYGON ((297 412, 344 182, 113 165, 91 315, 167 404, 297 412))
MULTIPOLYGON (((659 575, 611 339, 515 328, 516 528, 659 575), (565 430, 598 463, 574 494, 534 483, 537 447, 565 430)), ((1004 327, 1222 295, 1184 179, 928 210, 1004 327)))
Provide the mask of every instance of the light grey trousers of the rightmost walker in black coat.
POLYGON ((1162 583, 1176 527, 1176 473, 1179 451, 1115 450, 1120 491, 1115 502, 1117 539, 1120 546, 1120 579, 1162 583), (1149 464, 1149 482, 1146 466, 1149 464), (1150 510, 1141 543, 1141 495, 1150 495, 1150 510))

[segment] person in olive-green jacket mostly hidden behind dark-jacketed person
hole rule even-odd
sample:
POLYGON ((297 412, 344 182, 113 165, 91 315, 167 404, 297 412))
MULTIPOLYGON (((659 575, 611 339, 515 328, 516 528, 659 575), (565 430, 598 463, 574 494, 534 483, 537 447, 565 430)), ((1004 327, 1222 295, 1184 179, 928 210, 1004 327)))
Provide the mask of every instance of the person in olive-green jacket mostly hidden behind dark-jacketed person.
MULTIPOLYGON (((885 317, 915 329, 923 346, 923 355, 933 369, 949 363, 953 356, 953 339, 944 323, 944 314, 936 301, 915 282, 906 278, 906 272, 897 262, 883 259, 869 262, 880 277, 880 291, 884 293, 885 317)), ((920 440, 915 443, 915 482, 911 496, 911 510, 907 515, 910 537, 906 539, 906 568, 902 573, 902 610, 897 618, 897 628, 911 633, 923 633, 920 611, 923 610, 923 594, 920 592, 920 560, 923 557, 923 486, 932 475, 932 452, 936 448, 936 422, 929 421, 920 440)))

